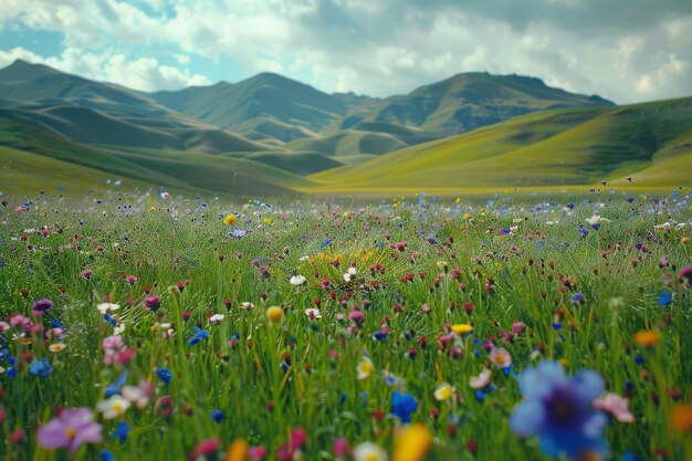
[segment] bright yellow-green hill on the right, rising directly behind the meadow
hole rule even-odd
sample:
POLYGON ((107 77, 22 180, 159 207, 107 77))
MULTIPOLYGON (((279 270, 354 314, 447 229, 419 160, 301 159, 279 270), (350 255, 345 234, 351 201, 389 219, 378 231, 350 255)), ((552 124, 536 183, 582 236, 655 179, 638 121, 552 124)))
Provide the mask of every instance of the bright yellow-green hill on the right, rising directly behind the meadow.
POLYGON ((692 97, 535 113, 310 177, 316 191, 692 184, 692 97))

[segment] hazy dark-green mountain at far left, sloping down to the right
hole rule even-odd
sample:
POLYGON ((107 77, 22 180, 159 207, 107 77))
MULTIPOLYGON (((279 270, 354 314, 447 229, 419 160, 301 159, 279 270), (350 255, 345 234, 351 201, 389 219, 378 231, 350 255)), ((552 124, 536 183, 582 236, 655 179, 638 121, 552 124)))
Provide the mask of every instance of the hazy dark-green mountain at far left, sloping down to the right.
POLYGON ((217 153, 268 149, 132 90, 20 60, 0 70, 0 118, 80 143, 217 153))

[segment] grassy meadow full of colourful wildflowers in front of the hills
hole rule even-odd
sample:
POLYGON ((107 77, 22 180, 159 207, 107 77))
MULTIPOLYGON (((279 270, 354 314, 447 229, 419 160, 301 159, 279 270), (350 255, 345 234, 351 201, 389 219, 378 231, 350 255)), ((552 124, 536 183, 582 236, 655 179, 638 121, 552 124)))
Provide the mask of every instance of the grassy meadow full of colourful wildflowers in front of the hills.
POLYGON ((692 457, 688 190, 55 187, 0 197, 3 460, 692 457))

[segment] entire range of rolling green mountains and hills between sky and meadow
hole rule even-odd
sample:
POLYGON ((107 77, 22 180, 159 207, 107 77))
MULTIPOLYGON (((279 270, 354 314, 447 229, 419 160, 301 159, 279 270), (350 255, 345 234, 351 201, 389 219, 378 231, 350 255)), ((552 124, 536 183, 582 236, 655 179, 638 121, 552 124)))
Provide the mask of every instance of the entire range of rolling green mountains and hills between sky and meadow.
POLYGON ((684 98, 619 107, 535 77, 489 73, 458 74, 386 98, 327 94, 272 73, 144 93, 18 60, 0 70, 0 155, 13 165, 23 151, 65 168, 244 193, 361 190, 377 178, 385 189, 442 186, 439 171, 457 169, 458 178, 478 180, 466 168, 470 158, 489 178, 510 166, 504 182, 552 184, 569 170, 558 182, 579 184, 623 165, 641 168, 673 139, 684 145, 689 106, 684 98), (584 137, 574 135, 579 127, 584 137), (538 148, 547 154, 532 154, 538 148), (560 150, 572 160, 557 160, 562 169, 543 179, 532 177, 530 163, 525 175, 516 167, 532 159, 548 168, 546 158, 560 150), (586 159, 593 171, 579 167, 586 159))

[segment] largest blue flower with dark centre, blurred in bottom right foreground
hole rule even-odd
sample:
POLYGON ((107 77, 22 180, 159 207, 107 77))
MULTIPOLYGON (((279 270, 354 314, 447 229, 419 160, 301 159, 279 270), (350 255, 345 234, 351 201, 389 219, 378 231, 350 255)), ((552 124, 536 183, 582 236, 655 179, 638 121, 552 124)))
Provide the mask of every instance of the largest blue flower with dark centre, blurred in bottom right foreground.
POLYGON ((604 429, 608 420, 593 406, 604 390, 598 373, 581 370, 568 377, 559 364, 545 360, 525 369, 518 380, 526 399, 510 419, 514 433, 538 436, 541 450, 551 457, 607 449, 604 429))

